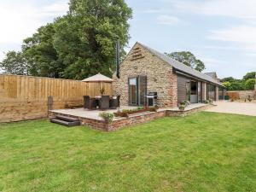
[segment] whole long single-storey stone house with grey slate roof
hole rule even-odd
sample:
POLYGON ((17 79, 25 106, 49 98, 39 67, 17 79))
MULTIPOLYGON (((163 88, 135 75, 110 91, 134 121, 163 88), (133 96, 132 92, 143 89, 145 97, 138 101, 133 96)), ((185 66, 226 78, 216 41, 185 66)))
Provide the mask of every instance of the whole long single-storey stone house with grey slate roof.
POLYGON ((183 101, 195 103, 224 99, 224 86, 216 73, 200 73, 136 43, 119 65, 119 71, 113 74, 113 93, 120 96, 121 105, 152 105, 150 93, 157 95, 154 104, 173 108, 183 101))

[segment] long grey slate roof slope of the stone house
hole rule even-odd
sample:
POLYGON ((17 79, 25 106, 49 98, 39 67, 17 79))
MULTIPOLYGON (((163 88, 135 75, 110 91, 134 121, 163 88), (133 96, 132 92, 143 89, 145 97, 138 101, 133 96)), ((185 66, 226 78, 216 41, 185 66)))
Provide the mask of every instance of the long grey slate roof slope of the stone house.
POLYGON ((141 46, 143 46, 143 48, 148 49, 148 51, 150 53, 152 53, 153 55, 159 57, 162 61, 166 61, 166 63, 170 64, 177 71, 180 71, 180 72, 183 72, 183 73, 187 73, 187 74, 189 74, 189 75, 191 75, 191 76, 193 76, 193 77, 195 77, 197 79, 202 79, 202 80, 211 82, 212 84, 218 84, 220 86, 223 86, 216 79, 212 79, 212 77, 207 75, 207 74, 204 74, 204 73, 201 73, 199 71, 196 71, 195 69, 193 69, 193 68, 191 68, 189 66, 186 66, 185 64, 183 64, 183 63, 181 63, 179 61, 176 61, 176 60, 172 59, 170 56, 162 54, 162 53, 158 52, 155 49, 149 48, 146 45, 143 45, 143 44, 138 43, 138 42, 137 42, 137 44, 140 44, 141 46))

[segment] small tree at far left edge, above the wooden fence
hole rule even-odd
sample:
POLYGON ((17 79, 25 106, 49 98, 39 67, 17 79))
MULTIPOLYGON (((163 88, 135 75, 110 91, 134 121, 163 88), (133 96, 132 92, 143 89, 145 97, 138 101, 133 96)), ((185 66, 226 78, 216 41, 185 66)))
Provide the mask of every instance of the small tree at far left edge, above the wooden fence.
POLYGON ((27 75, 29 65, 21 52, 12 50, 6 53, 3 61, 0 62, 0 68, 3 69, 4 73, 27 75))

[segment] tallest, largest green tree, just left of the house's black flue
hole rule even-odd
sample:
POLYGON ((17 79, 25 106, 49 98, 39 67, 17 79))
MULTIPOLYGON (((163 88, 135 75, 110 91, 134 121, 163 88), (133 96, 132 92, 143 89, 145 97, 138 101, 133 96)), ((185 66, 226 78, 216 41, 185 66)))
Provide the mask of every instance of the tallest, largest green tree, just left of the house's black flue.
POLYGON ((54 46, 67 66, 64 77, 84 79, 98 72, 111 76, 115 40, 119 37, 124 53, 130 18, 124 0, 71 0, 68 14, 55 25, 54 46))

